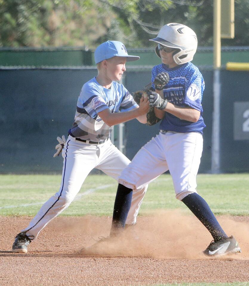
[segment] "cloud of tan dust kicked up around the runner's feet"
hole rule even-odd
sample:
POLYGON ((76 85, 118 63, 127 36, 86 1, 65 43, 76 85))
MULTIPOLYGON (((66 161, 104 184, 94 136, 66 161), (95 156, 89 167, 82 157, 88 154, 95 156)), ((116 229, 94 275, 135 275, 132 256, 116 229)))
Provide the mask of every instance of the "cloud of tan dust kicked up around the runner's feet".
MULTIPOLYGON (((225 232, 236 238, 242 249, 242 253, 233 254, 231 258, 248 259, 249 218, 220 216, 217 219, 225 232)), ((161 210, 149 216, 139 216, 135 226, 125 229, 118 238, 107 240, 101 238, 109 236, 110 217, 86 216, 80 221, 78 219, 77 226, 72 221, 65 227, 74 235, 77 235, 77 231, 85 235, 80 249, 75 249, 83 256, 207 259, 202 251, 213 239, 194 215, 186 215, 179 210, 161 210)))

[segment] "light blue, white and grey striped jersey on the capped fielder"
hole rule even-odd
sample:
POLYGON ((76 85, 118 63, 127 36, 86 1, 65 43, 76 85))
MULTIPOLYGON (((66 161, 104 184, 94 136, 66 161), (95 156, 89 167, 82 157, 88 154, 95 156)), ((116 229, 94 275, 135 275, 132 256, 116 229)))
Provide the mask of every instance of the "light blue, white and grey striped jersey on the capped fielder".
POLYGON ((96 78, 85 83, 78 97, 75 121, 68 133, 84 140, 99 142, 110 136, 113 126, 107 125, 98 113, 109 108, 113 112, 137 108, 132 95, 115 81, 110 89, 101 86, 96 78))

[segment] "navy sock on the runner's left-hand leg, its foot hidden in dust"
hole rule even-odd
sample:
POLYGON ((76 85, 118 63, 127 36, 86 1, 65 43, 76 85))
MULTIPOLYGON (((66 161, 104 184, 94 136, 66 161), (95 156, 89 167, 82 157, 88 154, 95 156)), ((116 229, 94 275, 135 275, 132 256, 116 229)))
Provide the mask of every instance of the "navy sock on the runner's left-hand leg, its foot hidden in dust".
POLYGON ((112 228, 110 236, 118 234, 125 226, 126 218, 132 204, 132 189, 118 184, 117 194, 114 203, 112 228))

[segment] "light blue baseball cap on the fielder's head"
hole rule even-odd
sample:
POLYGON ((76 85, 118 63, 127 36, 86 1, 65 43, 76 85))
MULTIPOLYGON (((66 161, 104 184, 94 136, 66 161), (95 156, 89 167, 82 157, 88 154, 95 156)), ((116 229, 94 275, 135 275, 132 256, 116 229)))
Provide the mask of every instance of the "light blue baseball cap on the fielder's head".
POLYGON ((102 62, 102 60, 108 60, 115 56, 126 57, 127 62, 140 59, 138 56, 128 55, 126 47, 119 41, 106 41, 100 44, 94 52, 94 59, 96 64, 102 62))

